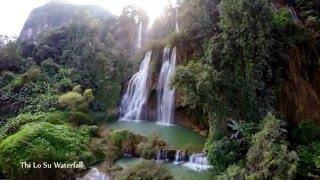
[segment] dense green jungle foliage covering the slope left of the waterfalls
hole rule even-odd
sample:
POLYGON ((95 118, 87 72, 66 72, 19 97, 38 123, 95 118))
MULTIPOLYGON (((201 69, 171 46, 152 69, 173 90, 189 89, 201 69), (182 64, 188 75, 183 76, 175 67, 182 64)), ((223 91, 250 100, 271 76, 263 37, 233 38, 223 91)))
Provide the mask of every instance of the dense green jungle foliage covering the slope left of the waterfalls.
MULTIPOLYGON (((56 6, 64 4, 47 4, 45 13, 56 6)), ((7 177, 65 179, 79 172, 22 169, 17 162, 83 161, 88 167, 121 154, 96 125, 117 118, 121 83, 133 63, 113 39, 114 17, 77 13, 81 21, 47 28, 35 39, 1 36, 0 169, 7 177)))

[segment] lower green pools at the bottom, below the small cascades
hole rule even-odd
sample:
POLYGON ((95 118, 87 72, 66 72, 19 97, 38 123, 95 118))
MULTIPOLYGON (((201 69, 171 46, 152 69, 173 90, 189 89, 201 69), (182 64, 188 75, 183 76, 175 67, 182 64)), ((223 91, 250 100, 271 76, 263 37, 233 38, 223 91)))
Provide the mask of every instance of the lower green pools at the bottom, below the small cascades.
MULTIPOLYGON (((116 165, 122 166, 124 169, 137 163, 141 159, 123 157, 116 162, 116 165)), ((183 165, 175 165, 173 163, 162 162, 164 167, 170 172, 175 180, 210 180, 214 179, 214 176, 209 171, 193 171, 183 165)))

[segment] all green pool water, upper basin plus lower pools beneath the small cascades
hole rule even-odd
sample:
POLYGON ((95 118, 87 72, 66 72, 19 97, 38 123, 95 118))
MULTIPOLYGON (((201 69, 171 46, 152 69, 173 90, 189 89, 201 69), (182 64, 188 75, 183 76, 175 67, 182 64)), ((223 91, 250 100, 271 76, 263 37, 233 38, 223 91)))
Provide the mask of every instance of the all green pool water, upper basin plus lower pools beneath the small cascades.
MULTIPOLYGON (((163 126, 158 125, 155 122, 150 121, 117 121, 107 124, 108 129, 128 129, 135 134, 144 136, 150 136, 157 134, 163 140, 166 140, 168 144, 174 146, 177 149, 188 149, 195 152, 201 152, 205 143, 205 137, 195 133, 192 129, 184 128, 178 125, 163 126)), ((128 168, 137 163, 139 158, 123 157, 115 164, 128 168)), ((175 180, 209 180, 213 179, 213 176, 209 171, 193 171, 183 165, 176 165, 169 162, 159 162, 168 169, 175 180)))

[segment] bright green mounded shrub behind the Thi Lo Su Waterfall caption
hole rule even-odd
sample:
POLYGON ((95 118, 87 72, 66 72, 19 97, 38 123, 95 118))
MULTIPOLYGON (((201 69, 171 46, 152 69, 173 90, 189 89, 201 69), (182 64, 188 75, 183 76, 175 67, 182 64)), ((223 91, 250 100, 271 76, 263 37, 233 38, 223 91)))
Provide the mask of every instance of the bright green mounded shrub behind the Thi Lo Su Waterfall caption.
POLYGON ((22 168, 20 162, 72 163, 88 160, 88 142, 88 132, 79 133, 69 126, 48 122, 29 123, 0 142, 0 169, 10 179, 65 179, 79 169, 28 169, 22 168), (83 154, 87 154, 85 159, 81 159, 83 154))

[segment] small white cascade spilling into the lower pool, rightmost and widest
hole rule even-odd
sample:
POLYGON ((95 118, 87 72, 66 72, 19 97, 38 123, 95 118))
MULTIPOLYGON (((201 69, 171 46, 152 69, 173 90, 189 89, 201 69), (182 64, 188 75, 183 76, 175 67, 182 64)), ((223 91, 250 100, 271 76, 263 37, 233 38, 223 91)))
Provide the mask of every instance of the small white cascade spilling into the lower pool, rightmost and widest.
POLYGON ((209 165, 206 154, 204 153, 192 154, 189 158, 189 162, 185 163, 184 166, 195 171, 212 168, 212 166, 209 165))

